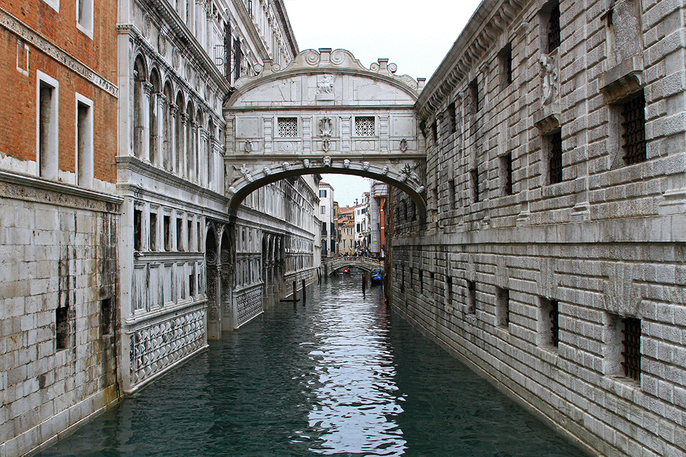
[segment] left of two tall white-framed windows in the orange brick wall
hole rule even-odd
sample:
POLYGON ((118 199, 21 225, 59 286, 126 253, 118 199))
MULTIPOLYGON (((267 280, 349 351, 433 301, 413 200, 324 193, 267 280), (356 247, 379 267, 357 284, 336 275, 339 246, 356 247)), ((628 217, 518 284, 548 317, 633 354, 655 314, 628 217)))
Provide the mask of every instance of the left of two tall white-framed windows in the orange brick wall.
POLYGON ((38 175, 48 180, 56 180, 59 149, 58 82, 45 73, 40 71, 37 73, 36 159, 38 175))

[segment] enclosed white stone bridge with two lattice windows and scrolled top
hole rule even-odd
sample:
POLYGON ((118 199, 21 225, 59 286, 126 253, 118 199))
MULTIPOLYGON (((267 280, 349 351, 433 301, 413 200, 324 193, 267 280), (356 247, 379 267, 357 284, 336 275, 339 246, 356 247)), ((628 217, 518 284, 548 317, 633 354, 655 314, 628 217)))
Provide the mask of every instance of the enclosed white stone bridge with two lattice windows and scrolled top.
POLYGON ((224 105, 230 208, 285 177, 342 173, 396 186, 425 212, 421 86, 395 70, 384 59, 366 69, 348 51, 310 49, 283 70, 265 61, 239 79, 224 105))

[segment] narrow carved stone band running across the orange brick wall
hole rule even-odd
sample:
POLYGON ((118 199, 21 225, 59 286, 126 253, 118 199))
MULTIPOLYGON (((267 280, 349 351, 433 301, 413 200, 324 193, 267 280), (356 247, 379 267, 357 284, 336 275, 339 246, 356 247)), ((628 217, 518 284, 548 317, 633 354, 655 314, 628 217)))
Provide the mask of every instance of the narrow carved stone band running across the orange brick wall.
POLYGON ((10 32, 19 36, 25 42, 30 43, 36 49, 53 58, 56 62, 67 67, 67 69, 78 73, 81 77, 86 79, 86 81, 95 84, 95 86, 101 88, 109 95, 113 97, 119 97, 119 88, 112 84, 104 77, 98 75, 92 69, 88 68, 86 64, 82 63, 80 60, 75 58, 73 55, 66 53, 60 49, 60 47, 54 45, 52 42, 47 40, 47 38, 38 34, 35 30, 27 27, 24 23, 19 21, 19 19, 12 16, 12 14, 6 12, 0 8, 0 25, 8 29, 10 32))

